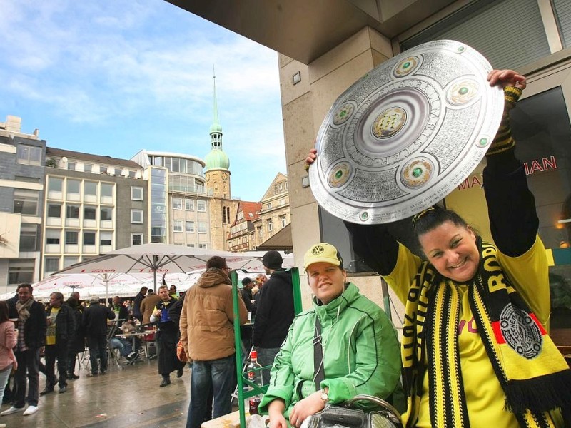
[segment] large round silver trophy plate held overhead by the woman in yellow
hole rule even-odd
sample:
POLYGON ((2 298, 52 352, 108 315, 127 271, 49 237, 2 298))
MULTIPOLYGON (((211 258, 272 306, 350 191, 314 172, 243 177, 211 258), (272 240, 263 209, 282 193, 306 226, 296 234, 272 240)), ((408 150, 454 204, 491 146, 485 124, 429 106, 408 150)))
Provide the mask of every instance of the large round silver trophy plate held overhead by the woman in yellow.
POLYGON ((323 121, 311 165, 318 204, 352 223, 389 223, 434 205, 476 168, 500 126, 490 63, 431 41, 353 83, 323 121))

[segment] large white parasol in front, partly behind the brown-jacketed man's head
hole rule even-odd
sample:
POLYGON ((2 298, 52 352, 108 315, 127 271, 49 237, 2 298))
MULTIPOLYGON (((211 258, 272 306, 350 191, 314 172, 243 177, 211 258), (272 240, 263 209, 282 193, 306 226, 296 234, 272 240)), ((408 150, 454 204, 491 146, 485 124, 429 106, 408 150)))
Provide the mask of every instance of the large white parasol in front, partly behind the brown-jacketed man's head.
POLYGON ((259 257, 248 253, 206 250, 204 248, 183 247, 182 245, 151 243, 133 245, 89 260, 76 263, 56 272, 54 275, 71 273, 91 274, 153 274, 153 290, 156 290, 156 275, 172 272, 191 272, 206 268, 206 261, 214 255, 226 258, 231 269, 242 268, 259 257))

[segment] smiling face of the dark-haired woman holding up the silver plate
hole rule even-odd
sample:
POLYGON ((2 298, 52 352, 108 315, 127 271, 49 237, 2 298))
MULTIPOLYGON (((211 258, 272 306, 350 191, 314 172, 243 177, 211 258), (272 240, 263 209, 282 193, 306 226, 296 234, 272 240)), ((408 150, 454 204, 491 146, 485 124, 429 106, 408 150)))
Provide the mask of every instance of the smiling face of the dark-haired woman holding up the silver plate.
POLYGON ((418 237, 428 261, 440 275, 457 282, 473 278, 480 263, 476 235, 470 228, 445 221, 418 237))

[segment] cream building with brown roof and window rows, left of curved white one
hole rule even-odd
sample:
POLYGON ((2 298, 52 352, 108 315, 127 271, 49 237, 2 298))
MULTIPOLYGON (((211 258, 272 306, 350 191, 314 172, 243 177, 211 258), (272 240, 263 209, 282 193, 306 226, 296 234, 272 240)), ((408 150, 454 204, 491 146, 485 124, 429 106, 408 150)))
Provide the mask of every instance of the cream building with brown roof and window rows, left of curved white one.
POLYGON ((148 242, 148 180, 125 159, 46 148, 40 277, 148 242))

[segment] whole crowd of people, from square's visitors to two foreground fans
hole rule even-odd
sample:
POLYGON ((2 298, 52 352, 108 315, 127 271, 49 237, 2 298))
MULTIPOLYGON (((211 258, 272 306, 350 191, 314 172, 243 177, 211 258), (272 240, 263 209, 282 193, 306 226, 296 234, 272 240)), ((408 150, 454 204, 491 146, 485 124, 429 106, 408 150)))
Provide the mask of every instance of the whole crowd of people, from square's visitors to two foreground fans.
MULTIPOLYGON (((268 414, 271 428, 300 427, 328 404, 358 394, 392 404, 404 427, 569 427, 571 371, 548 335, 545 248, 510 130, 510 110, 525 77, 496 70, 488 81, 505 93, 483 173, 494 244, 440 205, 410 224, 423 257, 398 242, 389 225, 345 223, 355 253, 405 305, 402 337, 348 281, 343 257, 329 243, 312 245, 304 255, 313 305, 297 315, 292 274, 277 251, 263 256, 265 274, 241 280, 242 350, 236 350, 230 269, 219 256, 181 296, 163 278, 157 294, 142 287, 129 302, 115 297, 107 306, 93 298, 83 307, 78 293, 64 302, 54 292, 44 307, 31 285, 22 284, 14 299, 0 302, 0 396, 15 370, 12 405, 1 414, 33 414, 39 394, 54 392, 56 384, 66 392, 67 380, 77 378, 76 355, 85 340, 90 375, 106 374, 108 322, 121 320, 121 332, 156 327, 160 387, 171 384, 173 372, 183 376, 183 360, 190 363, 187 428, 231 413, 236 352, 246 357, 251 349, 265 367, 268 388, 258 410, 268 414), (39 372, 46 374, 42 392, 39 372)), ((313 149, 308 168, 316 158, 313 149)), ((110 343, 127 360, 137 357, 128 340, 111 337, 110 343)))

